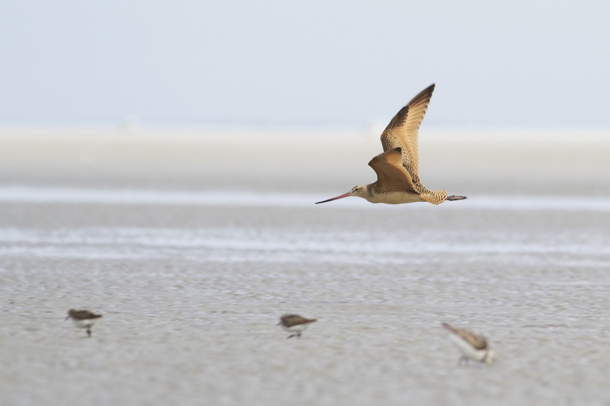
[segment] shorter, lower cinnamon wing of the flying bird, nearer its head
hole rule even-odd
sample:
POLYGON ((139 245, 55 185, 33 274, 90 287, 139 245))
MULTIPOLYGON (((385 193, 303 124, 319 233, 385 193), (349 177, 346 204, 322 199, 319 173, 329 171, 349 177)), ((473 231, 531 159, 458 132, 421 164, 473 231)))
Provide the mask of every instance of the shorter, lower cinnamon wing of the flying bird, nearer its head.
POLYGON ((411 176, 403 167, 400 147, 380 153, 368 165, 377 173, 376 184, 380 192, 417 193, 411 176))

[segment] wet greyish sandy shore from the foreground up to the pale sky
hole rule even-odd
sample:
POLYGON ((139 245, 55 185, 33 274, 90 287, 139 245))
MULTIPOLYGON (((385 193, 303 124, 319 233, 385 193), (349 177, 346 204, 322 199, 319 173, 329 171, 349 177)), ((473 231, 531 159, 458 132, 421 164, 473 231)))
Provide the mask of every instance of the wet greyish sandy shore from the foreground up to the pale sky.
POLYGON ((2 129, 0 404, 610 404, 608 133, 422 131, 468 200, 314 205, 375 131, 2 129))

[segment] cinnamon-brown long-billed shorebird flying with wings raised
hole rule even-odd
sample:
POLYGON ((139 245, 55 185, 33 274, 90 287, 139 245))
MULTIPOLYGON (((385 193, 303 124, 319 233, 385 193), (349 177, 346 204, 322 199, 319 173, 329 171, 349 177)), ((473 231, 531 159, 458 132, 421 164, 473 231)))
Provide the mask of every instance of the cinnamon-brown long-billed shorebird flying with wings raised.
POLYGON ((464 200, 465 196, 447 196, 445 191, 429 191, 419 178, 419 152, 417 131, 428 110, 434 84, 428 86, 400 109, 381 134, 383 153, 371 159, 368 165, 377 173, 377 181, 354 186, 346 194, 318 201, 337 200, 357 196, 371 203, 414 203, 428 201, 438 205, 445 200, 464 200))

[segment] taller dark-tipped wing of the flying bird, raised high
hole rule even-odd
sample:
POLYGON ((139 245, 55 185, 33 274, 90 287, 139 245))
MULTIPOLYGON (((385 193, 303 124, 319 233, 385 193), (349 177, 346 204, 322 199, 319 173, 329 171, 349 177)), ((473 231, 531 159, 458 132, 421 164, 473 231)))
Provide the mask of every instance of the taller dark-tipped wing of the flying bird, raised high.
POLYGON ((401 108, 381 134, 384 151, 401 147, 403 166, 411 174, 415 184, 420 184, 417 132, 428 110, 433 91, 434 83, 401 108))

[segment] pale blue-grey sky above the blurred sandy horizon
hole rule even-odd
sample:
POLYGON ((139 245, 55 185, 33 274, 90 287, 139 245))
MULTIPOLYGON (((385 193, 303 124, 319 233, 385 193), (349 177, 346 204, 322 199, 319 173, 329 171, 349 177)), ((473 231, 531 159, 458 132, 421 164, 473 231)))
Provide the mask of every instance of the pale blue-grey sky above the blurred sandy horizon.
POLYGON ((0 0, 0 125, 610 127, 608 1, 0 0))

